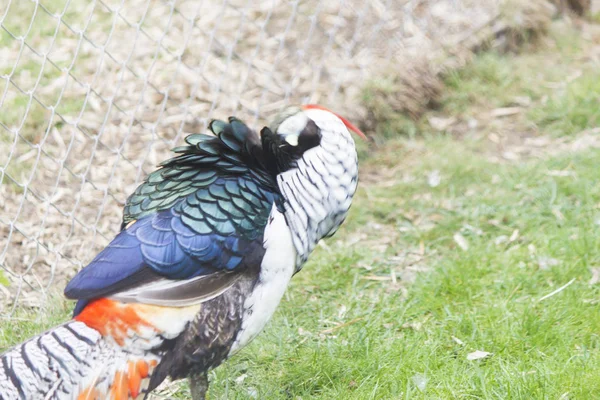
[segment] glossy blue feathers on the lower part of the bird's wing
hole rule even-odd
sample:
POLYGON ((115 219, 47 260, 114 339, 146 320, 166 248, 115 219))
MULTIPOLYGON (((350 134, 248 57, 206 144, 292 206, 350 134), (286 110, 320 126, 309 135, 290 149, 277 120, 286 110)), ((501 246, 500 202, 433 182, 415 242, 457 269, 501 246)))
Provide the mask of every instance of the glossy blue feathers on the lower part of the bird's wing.
POLYGON ((234 234, 198 234, 175 209, 161 211, 121 231, 69 282, 65 295, 75 299, 104 296, 146 267, 169 279, 235 270, 253 245, 258 243, 234 234))

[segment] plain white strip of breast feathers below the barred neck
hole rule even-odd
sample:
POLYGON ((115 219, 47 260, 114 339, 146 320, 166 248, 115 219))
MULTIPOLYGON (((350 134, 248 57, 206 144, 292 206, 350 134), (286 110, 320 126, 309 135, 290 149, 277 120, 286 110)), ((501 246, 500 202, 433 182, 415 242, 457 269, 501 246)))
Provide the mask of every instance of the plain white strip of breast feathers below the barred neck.
POLYGON ((276 207, 271 210, 264 234, 265 255, 258 280, 244 301, 242 323, 230 355, 258 335, 275 313, 294 274, 296 248, 285 217, 276 207))

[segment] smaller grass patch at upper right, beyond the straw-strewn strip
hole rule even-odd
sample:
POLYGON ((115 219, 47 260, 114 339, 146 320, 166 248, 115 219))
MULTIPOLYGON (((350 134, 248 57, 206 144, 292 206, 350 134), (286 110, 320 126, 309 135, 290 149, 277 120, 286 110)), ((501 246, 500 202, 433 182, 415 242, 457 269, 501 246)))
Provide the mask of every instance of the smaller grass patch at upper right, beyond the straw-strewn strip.
POLYGON ((586 54, 597 40, 555 24, 538 49, 518 55, 483 53, 445 77, 442 110, 480 118, 482 112, 526 101, 531 106, 525 122, 544 134, 573 135, 593 128, 600 120, 600 73, 586 54))

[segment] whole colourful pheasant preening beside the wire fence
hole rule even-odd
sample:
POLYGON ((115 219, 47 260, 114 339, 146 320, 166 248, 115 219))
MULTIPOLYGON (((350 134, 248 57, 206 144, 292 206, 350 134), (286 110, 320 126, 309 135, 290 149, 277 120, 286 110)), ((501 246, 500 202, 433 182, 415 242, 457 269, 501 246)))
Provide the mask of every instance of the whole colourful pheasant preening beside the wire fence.
POLYGON ((213 120, 125 202, 120 231, 67 284, 73 318, 0 356, 0 398, 145 399, 207 372, 265 327, 293 275, 345 220, 351 132, 315 104, 260 130, 213 120))

